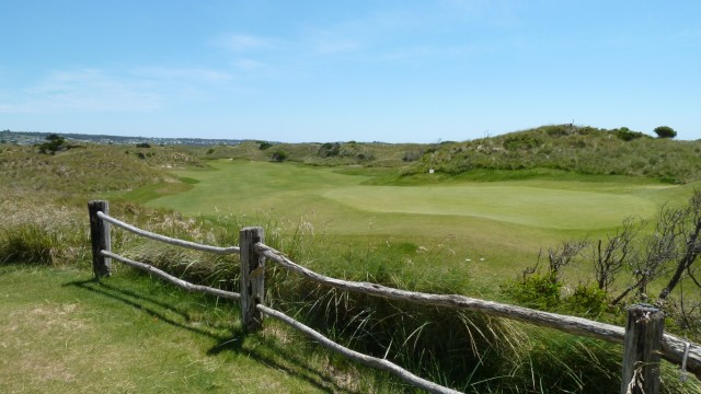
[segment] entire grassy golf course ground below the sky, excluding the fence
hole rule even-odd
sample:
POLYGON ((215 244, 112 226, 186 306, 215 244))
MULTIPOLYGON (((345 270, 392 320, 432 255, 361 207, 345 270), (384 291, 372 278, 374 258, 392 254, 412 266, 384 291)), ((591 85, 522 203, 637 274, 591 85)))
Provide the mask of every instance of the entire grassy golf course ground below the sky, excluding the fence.
MULTIPOLYGON (((681 280, 671 282, 665 331, 698 343, 701 300, 689 247, 701 231, 701 147, 629 137, 627 130, 545 126, 430 146, 64 141, 51 154, 42 146, 2 144, 0 265, 8 267, 0 267, 0 298, 9 317, 0 323, 12 334, 0 339, 0 386, 74 392, 90 381, 87 387, 104 391, 122 381, 146 391, 230 392, 233 371, 246 370, 271 379, 246 381, 243 392, 411 390, 273 322, 245 339, 235 305, 193 298, 116 263, 113 277, 94 282, 85 202, 95 199, 138 228, 210 245, 237 245, 242 228, 262 227, 266 245, 333 278, 618 326, 627 306, 660 297, 682 267, 681 280), (42 286, 28 285, 35 280, 42 286), (164 306, 174 300, 179 306, 164 306), (58 327, 58 317, 34 332, 34 321, 23 320, 56 314, 80 324, 71 320, 54 337, 44 327, 58 327), (42 335, 41 347, 24 339, 42 335), (92 368, 104 352, 83 350, 103 337, 134 367, 92 368), (142 337, 153 339, 150 352, 138 351, 142 337), (177 352, 171 338, 182 344, 177 352), (67 352, 66 344, 74 350, 67 352), (290 364, 283 359, 291 354, 298 358, 290 364), (21 368, 7 361, 13 359, 21 368), (161 359, 162 368, 140 372, 161 359), (32 373, 32 366, 46 373, 32 373), (285 372, 269 374, 266 366, 285 372), (169 379, 151 379, 161 374, 169 379)), ((112 246, 183 280, 240 291, 235 256, 183 252, 118 229, 112 246)), ((341 291, 272 262, 265 283, 266 305, 462 392, 595 393, 621 381, 622 349, 608 343, 341 291)), ((697 380, 676 378, 677 364, 662 368, 664 392, 699 392, 697 380)))

